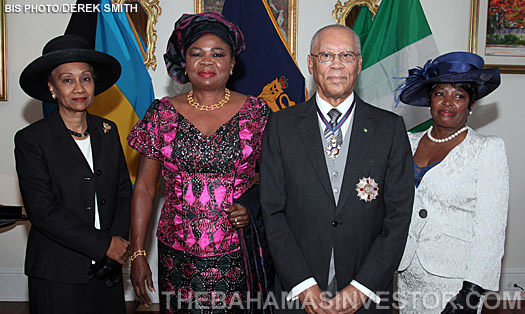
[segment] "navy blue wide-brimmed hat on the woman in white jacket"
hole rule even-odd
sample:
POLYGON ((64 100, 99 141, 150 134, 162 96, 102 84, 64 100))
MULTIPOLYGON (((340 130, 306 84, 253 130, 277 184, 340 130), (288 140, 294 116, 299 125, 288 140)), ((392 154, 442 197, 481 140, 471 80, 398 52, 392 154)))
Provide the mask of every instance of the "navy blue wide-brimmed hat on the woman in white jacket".
POLYGON ((429 88, 440 83, 470 83, 481 99, 500 84, 498 68, 483 69, 485 62, 477 54, 470 52, 450 52, 432 60, 424 67, 408 70, 408 77, 396 89, 402 102, 412 106, 428 107, 429 88))

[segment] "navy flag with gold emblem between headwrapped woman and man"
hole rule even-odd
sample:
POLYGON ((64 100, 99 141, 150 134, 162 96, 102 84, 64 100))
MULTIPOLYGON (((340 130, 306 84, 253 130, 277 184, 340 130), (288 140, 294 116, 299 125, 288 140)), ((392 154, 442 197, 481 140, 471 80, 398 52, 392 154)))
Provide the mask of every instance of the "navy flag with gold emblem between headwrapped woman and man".
POLYGON ((303 102, 304 77, 268 2, 225 0, 222 15, 239 26, 246 40, 229 87, 264 98, 273 111, 303 102))

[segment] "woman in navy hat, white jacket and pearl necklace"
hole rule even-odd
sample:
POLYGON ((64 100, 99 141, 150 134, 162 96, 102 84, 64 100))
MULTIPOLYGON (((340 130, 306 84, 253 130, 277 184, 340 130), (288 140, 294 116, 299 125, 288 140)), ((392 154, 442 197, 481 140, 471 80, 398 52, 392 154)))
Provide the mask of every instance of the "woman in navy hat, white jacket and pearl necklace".
POLYGON ((503 140, 466 126, 477 100, 500 84, 497 68, 452 52, 409 70, 400 99, 429 107, 432 126, 409 134, 416 194, 399 266, 400 313, 481 312, 498 290, 509 171, 503 140))

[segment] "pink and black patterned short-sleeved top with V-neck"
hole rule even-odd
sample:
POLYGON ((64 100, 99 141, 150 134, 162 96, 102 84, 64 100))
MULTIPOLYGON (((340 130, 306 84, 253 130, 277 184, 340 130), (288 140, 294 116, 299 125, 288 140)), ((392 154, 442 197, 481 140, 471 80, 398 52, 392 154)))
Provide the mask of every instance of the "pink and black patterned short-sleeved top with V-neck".
POLYGON ((249 96, 237 114, 206 136, 168 97, 151 104, 127 140, 162 164, 166 199, 157 228, 162 243, 201 257, 239 250, 224 209, 253 185, 269 112, 264 100, 249 96))

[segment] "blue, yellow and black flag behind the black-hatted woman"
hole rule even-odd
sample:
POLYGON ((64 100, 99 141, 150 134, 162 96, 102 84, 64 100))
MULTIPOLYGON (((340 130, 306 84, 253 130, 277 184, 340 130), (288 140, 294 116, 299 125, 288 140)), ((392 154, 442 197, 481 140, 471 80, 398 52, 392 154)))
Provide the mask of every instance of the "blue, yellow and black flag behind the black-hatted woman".
POLYGON ((151 77, 143 63, 144 43, 126 12, 112 6, 110 0, 77 1, 80 3, 100 4, 100 12, 73 13, 65 33, 84 37, 94 43, 95 50, 113 56, 122 66, 120 79, 95 97, 89 112, 117 124, 131 180, 135 182, 140 154, 128 146, 126 137, 155 98, 151 77))

